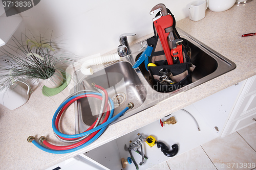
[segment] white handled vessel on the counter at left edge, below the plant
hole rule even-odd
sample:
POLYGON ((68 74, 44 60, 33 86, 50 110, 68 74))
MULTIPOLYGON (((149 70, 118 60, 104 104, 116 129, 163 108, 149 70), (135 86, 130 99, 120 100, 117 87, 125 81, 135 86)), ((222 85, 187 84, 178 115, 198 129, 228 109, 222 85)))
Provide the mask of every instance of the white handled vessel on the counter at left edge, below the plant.
MULTIPOLYGON (((18 82, 22 82, 22 81, 18 81, 18 82)), ((28 86, 27 90, 24 87, 20 86, 19 83, 17 82, 1 90, 0 104, 4 105, 10 110, 14 110, 24 105, 29 100, 29 89, 30 89, 27 83, 24 83, 24 84, 28 86)))

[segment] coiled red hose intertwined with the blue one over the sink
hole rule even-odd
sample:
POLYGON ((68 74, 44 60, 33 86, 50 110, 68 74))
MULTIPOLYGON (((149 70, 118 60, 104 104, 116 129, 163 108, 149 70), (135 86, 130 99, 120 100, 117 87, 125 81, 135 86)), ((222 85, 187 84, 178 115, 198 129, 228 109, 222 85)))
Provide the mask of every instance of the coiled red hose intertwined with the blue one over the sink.
MULTIPOLYGON (((96 87, 96 85, 95 85, 96 87)), ((106 95, 106 97, 108 97, 108 93, 106 92, 105 89, 103 89, 102 87, 98 86, 98 88, 102 89, 106 95)), ((62 113, 73 103, 75 102, 76 100, 78 99, 81 99, 81 98, 85 98, 85 97, 95 97, 95 98, 98 98, 98 99, 101 99, 102 100, 102 97, 99 96, 99 95, 95 95, 95 94, 85 94, 85 95, 81 95, 81 96, 78 96, 76 98, 74 98, 73 100, 71 100, 70 102, 68 102, 61 110, 60 112, 58 113, 57 117, 56 117, 56 120, 55 120, 55 125, 56 125, 56 128, 58 129, 58 123, 59 123, 59 119, 62 115, 62 113)), ((109 98, 109 97, 108 97, 109 98)), ((106 112, 106 116, 103 120, 102 123, 105 123, 106 120, 108 120, 108 117, 110 115, 110 107, 108 105, 108 98, 106 98, 105 100, 105 104, 104 104, 104 110, 107 108, 107 112, 106 112)), ((89 127, 86 131, 88 130, 91 130, 93 129, 94 125, 96 124, 97 120, 94 122, 94 124, 89 127)), ((86 132, 84 131, 84 132, 86 132)), ((80 145, 82 145, 83 143, 89 141, 91 138, 93 138, 100 130, 96 131, 96 132, 93 132, 92 134, 90 134, 87 138, 84 138, 83 140, 77 142, 77 143, 74 143, 74 144, 70 144, 70 145, 65 145, 65 146, 57 146, 57 145, 53 145, 51 143, 49 143, 47 140, 44 140, 43 143, 48 147, 48 148, 51 148, 51 149, 54 149, 54 150, 68 150, 68 149, 72 149, 72 148, 76 148, 76 147, 79 147, 80 145)), ((60 136, 59 136, 60 137, 60 136)), ((62 138, 62 137, 61 137, 62 138)), ((62 138, 62 139, 67 139, 67 140, 73 140, 73 139, 69 139, 69 138, 62 138)), ((76 138, 77 139, 77 138, 76 138)))

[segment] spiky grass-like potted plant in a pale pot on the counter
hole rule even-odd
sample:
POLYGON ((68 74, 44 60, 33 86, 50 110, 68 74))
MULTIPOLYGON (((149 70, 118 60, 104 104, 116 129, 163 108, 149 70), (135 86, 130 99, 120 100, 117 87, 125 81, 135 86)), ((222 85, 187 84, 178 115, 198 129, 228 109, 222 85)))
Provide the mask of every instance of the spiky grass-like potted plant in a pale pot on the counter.
POLYGON ((74 61, 52 38, 47 40, 41 35, 28 38, 22 34, 20 40, 13 36, 0 51, 11 65, 0 65, 2 89, 18 80, 41 80, 48 88, 58 88, 66 78, 65 69, 61 68, 74 61))

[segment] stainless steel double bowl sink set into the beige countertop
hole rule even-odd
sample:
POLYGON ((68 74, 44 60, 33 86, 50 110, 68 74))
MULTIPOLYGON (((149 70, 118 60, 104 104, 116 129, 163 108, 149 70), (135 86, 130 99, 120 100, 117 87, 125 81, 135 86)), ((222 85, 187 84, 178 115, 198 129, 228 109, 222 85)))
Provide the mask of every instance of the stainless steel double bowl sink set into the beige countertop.
MULTIPOLYGON (((118 62, 96 68, 91 76, 84 76, 80 70, 76 70, 74 91, 95 90, 92 83, 102 86, 108 91, 109 97, 114 102, 114 115, 123 110, 128 103, 133 102, 134 108, 128 110, 115 121, 118 122, 236 68, 236 64, 202 42, 179 28, 177 28, 177 31, 182 39, 188 41, 191 48, 191 63, 196 66, 191 75, 191 84, 168 93, 154 90, 153 84, 148 81, 150 75, 144 64, 141 64, 138 68, 132 68, 143 52, 141 43, 136 43, 131 46, 131 55, 122 57, 118 62)), ((95 122, 100 106, 101 101, 95 98, 83 98, 75 103, 76 133, 83 132, 95 122)))

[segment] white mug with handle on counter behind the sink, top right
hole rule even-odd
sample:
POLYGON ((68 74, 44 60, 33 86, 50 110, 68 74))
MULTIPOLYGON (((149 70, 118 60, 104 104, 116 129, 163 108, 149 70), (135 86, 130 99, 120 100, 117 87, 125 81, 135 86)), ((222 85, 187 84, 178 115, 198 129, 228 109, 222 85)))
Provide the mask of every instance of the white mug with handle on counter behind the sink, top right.
POLYGON ((188 8, 189 19, 199 21, 205 17, 205 10, 208 7, 208 1, 195 1, 188 8))

